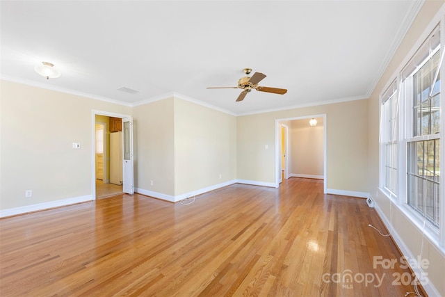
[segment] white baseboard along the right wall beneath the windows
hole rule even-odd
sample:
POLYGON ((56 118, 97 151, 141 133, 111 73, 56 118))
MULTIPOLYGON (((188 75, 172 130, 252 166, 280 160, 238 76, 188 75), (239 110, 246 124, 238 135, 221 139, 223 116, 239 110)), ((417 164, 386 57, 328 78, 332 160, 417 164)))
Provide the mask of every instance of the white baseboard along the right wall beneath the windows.
MULTIPOLYGON (((391 202, 390 202, 391 203, 391 202)), ((388 218, 385 216, 385 213, 383 213, 382 209, 378 206, 377 203, 374 202, 374 209, 377 211, 378 216, 382 219, 382 222, 385 224, 385 227, 387 227, 387 230, 391 234, 392 239, 396 241, 396 244, 398 248, 401 250, 402 255, 405 256, 405 259, 416 259, 414 255, 412 255, 411 250, 406 246, 405 242, 401 238, 401 236, 398 235, 394 227, 392 226, 391 222, 388 220, 388 218)), ((424 278, 421 278, 421 275, 428 275, 428 273, 425 273, 423 269, 421 268, 421 265, 418 265, 417 267, 411 267, 412 271, 416 274, 417 278, 419 280, 422 280, 424 278)), ((426 284, 422 284, 423 289, 425 289, 426 294, 428 296, 440 296, 439 291, 435 288, 435 286, 428 282, 426 284)))

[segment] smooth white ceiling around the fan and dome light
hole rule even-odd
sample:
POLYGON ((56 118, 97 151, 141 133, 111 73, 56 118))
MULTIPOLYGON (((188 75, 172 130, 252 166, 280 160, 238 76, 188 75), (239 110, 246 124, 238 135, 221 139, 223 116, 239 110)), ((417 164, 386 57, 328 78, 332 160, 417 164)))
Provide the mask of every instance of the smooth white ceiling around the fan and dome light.
POLYGON ((1 1, 1 77, 130 106, 175 93, 235 115, 363 99, 422 3, 1 1), (42 61, 62 76, 35 73, 42 61), (206 89, 236 86, 245 67, 288 92, 206 89))

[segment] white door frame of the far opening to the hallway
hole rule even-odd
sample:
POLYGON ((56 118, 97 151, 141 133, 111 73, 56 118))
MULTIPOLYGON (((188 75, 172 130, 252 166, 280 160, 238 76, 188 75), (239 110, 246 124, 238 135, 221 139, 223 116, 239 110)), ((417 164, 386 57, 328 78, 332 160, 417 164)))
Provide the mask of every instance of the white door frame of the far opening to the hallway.
MULTIPOLYGON (((326 114, 318 114, 318 115, 303 115, 300 117, 293 118, 280 118, 275 119, 275 188, 280 187, 280 179, 281 179, 281 127, 282 122, 292 121, 292 120, 310 120, 311 118, 323 118, 323 193, 326 193, 327 189, 327 168, 326 168, 326 114)), ((289 137, 288 137, 289 141, 289 137)), ((289 146, 289 145, 288 145, 289 146)), ((289 152, 288 152, 289 153, 289 152)))

